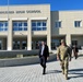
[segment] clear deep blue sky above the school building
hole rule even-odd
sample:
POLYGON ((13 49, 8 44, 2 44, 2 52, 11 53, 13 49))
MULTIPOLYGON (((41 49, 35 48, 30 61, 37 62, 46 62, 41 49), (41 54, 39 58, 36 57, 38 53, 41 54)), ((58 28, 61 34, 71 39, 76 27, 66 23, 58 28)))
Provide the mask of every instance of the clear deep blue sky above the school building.
MULTIPOLYGON (((83 10, 83 0, 9 0, 9 4, 50 4, 51 11, 83 10)), ((8 5, 8 0, 0 0, 0 5, 8 5)))

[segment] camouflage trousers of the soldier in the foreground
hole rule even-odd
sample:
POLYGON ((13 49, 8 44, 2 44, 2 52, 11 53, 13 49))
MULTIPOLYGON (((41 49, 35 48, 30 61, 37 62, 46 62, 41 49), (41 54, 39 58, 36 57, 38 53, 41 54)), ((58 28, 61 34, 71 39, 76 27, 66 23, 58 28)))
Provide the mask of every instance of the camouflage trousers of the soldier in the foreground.
POLYGON ((61 66, 61 69, 62 69, 62 73, 68 77, 68 67, 69 67, 68 58, 66 58, 64 60, 61 60, 60 66, 61 66))

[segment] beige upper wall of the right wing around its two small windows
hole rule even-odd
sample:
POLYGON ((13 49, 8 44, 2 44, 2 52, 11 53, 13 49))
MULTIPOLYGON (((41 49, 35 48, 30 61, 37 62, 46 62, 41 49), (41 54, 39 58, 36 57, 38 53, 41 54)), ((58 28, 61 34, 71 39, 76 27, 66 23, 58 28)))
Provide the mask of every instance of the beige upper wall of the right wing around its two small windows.
POLYGON ((82 34, 83 33, 83 11, 52 11, 51 12, 52 35, 82 34), (61 21, 61 27, 56 28, 55 22, 61 21), (81 21, 81 27, 74 27, 74 21, 81 21))

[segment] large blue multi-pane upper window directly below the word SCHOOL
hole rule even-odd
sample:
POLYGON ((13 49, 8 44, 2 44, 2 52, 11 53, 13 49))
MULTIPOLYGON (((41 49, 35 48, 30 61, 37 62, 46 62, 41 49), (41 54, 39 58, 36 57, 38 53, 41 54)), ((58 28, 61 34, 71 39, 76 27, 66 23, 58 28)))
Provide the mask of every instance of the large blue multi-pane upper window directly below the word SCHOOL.
POLYGON ((46 31, 47 22, 46 21, 32 21, 32 31, 46 31))

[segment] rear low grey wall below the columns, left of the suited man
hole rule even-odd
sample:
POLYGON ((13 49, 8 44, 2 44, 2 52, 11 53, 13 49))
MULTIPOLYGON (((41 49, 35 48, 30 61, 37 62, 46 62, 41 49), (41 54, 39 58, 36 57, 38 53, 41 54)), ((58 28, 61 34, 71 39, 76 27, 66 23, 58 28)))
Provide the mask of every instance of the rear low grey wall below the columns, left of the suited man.
POLYGON ((0 50, 0 57, 16 57, 16 55, 31 56, 38 55, 38 50, 0 50))

